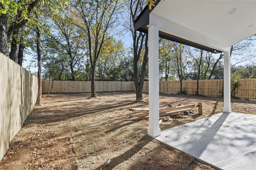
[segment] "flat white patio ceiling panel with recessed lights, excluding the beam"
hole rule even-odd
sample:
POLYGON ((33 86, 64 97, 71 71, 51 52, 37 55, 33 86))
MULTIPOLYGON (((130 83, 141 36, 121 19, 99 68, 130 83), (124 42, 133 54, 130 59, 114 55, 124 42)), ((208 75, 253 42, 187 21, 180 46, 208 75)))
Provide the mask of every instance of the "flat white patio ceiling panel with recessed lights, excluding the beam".
POLYGON ((161 0, 152 13, 228 46, 256 34, 256 0, 161 0))

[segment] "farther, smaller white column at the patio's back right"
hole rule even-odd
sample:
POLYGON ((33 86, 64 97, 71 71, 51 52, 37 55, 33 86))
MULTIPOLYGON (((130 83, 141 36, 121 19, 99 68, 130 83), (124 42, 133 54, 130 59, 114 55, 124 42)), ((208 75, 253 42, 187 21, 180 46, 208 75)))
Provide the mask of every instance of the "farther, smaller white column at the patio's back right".
POLYGON ((231 85, 230 85, 230 52, 224 52, 224 109, 223 112, 231 113, 231 85))

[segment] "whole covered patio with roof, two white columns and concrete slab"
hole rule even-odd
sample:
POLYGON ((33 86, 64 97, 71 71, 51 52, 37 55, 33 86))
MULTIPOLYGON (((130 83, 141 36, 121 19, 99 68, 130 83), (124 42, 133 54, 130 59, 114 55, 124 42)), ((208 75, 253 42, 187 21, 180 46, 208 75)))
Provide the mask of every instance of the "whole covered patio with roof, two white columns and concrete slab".
POLYGON ((255 167, 253 122, 256 115, 232 113, 230 104, 230 46, 256 34, 256 1, 161 0, 155 6, 151 10, 145 7, 135 21, 135 29, 149 35, 148 135, 217 169, 255 167), (212 53, 224 53, 223 113, 185 124, 185 127, 161 131, 159 37, 212 53), (252 122, 248 124, 246 117, 252 122))

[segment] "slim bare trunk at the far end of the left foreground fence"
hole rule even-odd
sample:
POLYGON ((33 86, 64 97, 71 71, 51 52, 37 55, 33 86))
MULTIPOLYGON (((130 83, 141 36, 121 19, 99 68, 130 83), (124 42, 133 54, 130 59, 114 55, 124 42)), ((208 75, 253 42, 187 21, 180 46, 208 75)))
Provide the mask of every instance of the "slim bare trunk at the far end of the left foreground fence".
POLYGON ((41 39, 40 39, 40 32, 39 29, 36 28, 36 51, 37 51, 37 61, 38 61, 38 73, 37 73, 37 80, 38 80, 38 94, 36 99, 36 105, 41 105, 42 99, 42 60, 41 60, 41 39))

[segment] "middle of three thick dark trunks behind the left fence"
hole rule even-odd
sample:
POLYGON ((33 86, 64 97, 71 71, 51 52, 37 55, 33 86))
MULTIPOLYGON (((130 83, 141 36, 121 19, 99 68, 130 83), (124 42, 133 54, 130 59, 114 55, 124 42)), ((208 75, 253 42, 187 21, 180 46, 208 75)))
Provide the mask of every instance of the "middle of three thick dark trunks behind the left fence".
POLYGON ((21 28, 18 28, 13 31, 12 43, 11 43, 11 52, 9 58, 14 62, 18 63, 18 53, 19 53, 19 42, 20 42, 20 31, 21 28))

